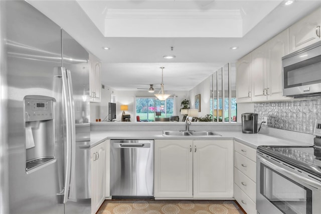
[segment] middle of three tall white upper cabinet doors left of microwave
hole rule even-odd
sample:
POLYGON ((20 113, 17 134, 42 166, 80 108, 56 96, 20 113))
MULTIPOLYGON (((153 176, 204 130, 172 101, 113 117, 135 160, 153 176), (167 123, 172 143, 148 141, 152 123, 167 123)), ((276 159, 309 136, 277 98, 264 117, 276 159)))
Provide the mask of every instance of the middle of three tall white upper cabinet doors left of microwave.
POLYGON ((266 44, 251 52, 252 101, 266 100, 266 44))

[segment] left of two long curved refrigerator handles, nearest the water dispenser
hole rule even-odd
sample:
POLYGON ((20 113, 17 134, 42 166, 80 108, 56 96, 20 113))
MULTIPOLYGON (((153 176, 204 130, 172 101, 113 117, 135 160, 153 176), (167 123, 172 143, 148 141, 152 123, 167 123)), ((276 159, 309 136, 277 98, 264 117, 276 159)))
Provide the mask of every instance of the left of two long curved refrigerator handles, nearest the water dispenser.
POLYGON ((62 90, 63 90, 63 103, 65 112, 65 124, 66 124, 66 153, 65 153, 65 187, 64 187, 64 199, 63 202, 66 203, 69 195, 69 184, 70 184, 70 172, 71 172, 71 143, 72 143, 72 125, 71 125, 71 112, 70 112, 70 90, 68 88, 67 72, 66 69, 60 67, 62 74, 62 90))

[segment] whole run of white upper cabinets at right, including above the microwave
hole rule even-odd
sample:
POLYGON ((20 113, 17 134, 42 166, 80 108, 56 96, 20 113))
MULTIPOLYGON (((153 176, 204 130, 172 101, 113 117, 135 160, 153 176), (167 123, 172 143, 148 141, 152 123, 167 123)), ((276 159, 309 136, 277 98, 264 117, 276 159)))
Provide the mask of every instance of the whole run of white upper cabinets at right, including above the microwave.
POLYGON ((282 57, 320 41, 320 25, 318 8, 237 61, 237 102, 290 99, 282 96, 282 57))

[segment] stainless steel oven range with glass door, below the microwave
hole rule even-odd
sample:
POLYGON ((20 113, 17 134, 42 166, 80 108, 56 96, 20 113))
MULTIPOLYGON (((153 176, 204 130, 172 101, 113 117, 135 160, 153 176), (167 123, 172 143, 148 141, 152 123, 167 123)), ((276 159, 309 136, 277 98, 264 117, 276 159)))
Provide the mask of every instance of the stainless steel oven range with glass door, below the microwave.
POLYGON ((260 147, 257 150, 256 209, 260 214, 321 213, 321 178, 296 164, 289 156, 308 158, 311 147, 260 147), (305 151, 306 150, 306 151, 305 151), (274 153, 274 154, 273 154, 274 153))

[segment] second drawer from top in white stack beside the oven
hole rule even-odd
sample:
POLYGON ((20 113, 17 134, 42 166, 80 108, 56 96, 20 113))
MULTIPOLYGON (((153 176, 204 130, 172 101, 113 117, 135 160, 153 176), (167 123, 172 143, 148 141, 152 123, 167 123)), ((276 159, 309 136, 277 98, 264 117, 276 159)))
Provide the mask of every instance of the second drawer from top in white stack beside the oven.
POLYGON ((234 166, 251 178, 251 180, 256 181, 256 163, 254 161, 234 152, 234 166))

